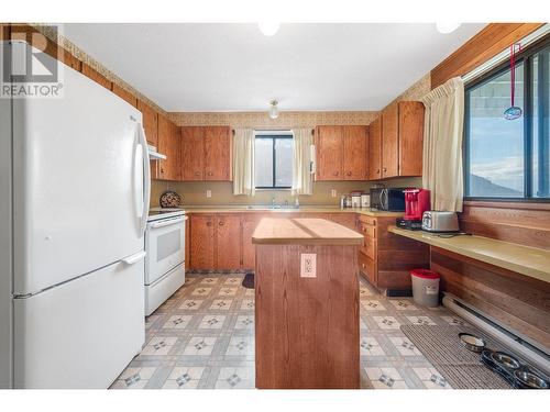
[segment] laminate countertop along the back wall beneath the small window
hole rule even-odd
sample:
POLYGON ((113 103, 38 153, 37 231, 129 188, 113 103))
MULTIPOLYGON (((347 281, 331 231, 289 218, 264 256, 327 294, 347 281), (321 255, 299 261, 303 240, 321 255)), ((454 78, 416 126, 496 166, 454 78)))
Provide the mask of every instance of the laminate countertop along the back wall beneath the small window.
POLYGON ((404 212, 385 212, 375 211, 370 209, 346 208, 340 209, 338 207, 300 207, 299 209, 280 208, 272 209, 270 207, 248 207, 248 205, 220 205, 220 207, 183 207, 186 213, 359 213, 373 218, 400 218, 404 212))

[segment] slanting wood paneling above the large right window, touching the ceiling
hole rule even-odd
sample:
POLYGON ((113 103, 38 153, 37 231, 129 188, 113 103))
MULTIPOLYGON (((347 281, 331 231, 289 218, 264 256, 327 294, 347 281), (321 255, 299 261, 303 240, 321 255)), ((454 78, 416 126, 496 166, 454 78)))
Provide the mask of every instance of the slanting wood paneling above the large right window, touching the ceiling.
POLYGON ((492 23, 431 70, 431 88, 463 76, 543 23, 492 23))

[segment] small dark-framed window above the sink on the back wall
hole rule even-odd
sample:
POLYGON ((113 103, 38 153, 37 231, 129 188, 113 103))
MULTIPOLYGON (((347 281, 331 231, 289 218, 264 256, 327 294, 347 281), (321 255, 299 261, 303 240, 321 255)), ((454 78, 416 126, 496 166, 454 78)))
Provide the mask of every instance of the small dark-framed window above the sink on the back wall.
POLYGON ((255 137, 256 189, 290 189, 293 186, 293 136, 265 134, 255 137))

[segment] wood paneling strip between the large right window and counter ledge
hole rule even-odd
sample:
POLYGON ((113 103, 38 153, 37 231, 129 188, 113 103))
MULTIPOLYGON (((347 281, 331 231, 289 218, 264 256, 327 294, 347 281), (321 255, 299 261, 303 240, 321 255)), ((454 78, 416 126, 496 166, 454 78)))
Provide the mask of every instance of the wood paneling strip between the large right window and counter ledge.
POLYGON ((460 227, 480 236, 550 249, 550 204, 464 202, 460 227))

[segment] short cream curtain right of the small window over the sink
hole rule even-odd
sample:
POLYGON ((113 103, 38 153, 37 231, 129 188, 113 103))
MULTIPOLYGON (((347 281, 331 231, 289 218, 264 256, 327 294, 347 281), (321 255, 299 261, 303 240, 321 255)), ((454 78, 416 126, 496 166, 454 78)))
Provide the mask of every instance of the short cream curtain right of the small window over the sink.
POLYGON ((311 129, 293 129, 293 194, 314 194, 311 181, 311 129))

